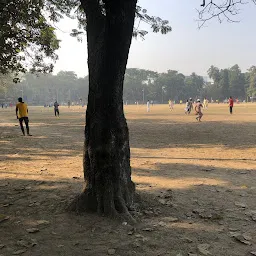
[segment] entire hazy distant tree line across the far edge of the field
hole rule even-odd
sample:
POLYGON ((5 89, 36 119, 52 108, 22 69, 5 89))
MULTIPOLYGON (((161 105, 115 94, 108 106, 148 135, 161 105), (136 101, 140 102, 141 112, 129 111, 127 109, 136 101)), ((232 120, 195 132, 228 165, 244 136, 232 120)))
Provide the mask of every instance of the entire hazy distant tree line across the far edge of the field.
MULTIPOLYGON (((238 65, 208 69, 211 81, 192 73, 185 76, 175 70, 157 73, 145 69, 129 68, 124 81, 124 102, 134 104, 153 100, 166 103, 168 99, 185 101, 188 98, 208 98, 220 101, 233 96, 240 100, 256 97, 256 66, 242 73, 238 65)), ((89 90, 88 77, 79 78, 73 71, 60 71, 57 75, 27 73, 20 83, 13 83, 10 76, 0 75, 0 101, 15 102, 23 98, 33 105, 50 104, 55 100, 86 103, 89 90)))

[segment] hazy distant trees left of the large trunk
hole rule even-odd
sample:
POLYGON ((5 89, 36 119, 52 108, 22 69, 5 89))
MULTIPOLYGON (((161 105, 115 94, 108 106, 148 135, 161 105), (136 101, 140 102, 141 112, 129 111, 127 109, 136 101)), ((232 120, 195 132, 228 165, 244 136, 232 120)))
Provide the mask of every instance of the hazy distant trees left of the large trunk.
MULTIPOLYGON (((61 71, 57 75, 26 73, 20 83, 7 88, 6 95, 10 102, 16 102, 23 91, 24 99, 30 104, 44 105, 56 99, 60 103, 79 102, 80 98, 85 101, 88 90, 88 78, 78 78, 73 71, 61 71)), ((1 92, 0 98, 4 98, 1 92)))

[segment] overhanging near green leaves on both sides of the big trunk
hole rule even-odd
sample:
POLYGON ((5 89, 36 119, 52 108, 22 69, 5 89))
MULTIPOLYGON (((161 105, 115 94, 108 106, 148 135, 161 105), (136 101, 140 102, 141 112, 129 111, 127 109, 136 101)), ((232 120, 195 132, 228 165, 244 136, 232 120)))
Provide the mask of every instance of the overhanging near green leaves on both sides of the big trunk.
MULTIPOLYGON (((104 4, 98 1, 105 14, 104 4)), ((77 19, 79 26, 71 36, 81 41, 86 17, 79 0, 0 0, 0 73, 51 72, 57 60, 59 40, 54 23, 64 17, 77 19), (82 30, 81 30, 82 29, 82 30)), ((137 18, 150 25, 153 32, 166 34, 168 21, 149 16, 137 7, 137 18)), ((134 28, 134 36, 144 37, 147 31, 134 28)))

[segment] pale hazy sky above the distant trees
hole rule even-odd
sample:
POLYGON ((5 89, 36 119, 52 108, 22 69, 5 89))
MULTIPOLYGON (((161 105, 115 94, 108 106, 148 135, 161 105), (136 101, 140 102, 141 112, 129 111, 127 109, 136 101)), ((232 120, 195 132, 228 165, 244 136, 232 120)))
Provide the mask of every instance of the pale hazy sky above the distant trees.
MULTIPOLYGON (((216 0, 217 2, 218 0, 216 0)), ((219 0, 221 2, 221 0, 219 0)), ((186 75, 193 71, 205 76, 211 65, 220 68, 239 64, 245 71, 256 65, 256 6, 240 6, 239 23, 212 20, 198 29, 196 8, 202 0, 140 0, 150 15, 170 21, 173 31, 167 35, 150 32, 146 40, 133 39, 128 67, 164 72, 178 70, 186 75)), ((69 36, 75 22, 63 20, 58 27, 62 40, 55 72, 73 70, 88 74, 86 38, 83 43, 69 36), (64 33, 66 32, 66 33, 64 33)))

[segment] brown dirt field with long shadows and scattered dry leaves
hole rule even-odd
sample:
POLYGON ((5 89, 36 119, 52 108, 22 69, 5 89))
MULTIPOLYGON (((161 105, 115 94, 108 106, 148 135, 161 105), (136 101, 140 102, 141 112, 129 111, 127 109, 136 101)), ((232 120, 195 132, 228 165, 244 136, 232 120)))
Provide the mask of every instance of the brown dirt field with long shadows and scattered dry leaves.
POLYGON ((137 224, 67 213, 82 188, 85 109, 0 109, 0 255, 256 255, 256 105, 126 106, 137 224), (255 252, 252 254, 251 252, 255 252))

